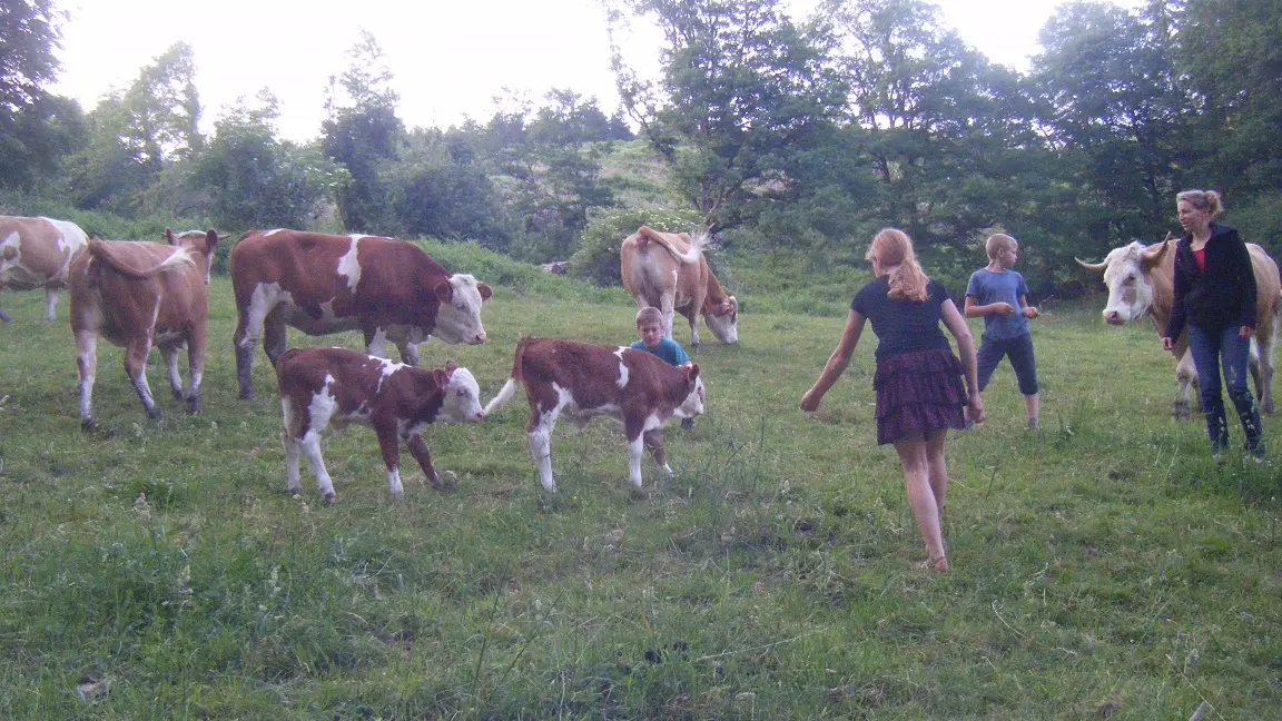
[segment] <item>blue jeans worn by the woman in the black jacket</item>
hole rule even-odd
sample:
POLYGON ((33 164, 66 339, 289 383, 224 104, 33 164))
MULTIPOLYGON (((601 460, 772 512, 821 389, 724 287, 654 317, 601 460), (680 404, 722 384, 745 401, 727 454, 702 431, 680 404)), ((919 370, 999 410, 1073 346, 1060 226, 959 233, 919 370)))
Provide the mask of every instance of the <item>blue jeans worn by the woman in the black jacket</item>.
POLYGON ((1228 398, 1237 409, 1238 421, 1242 422, 1246 450, 1254 452, 1260 445, 1260 409, 1255 405, 1255 396, 1246 384, 1251 339, 1240 337, 1238 330, 1238 326, 1206 330, 1188 325, 1188 353, 1192 354, 1194 367, 1197 369, 1203 413, 1206 416, 1206 435, 1210 436, 1211 449, 1215 453, 1228 446, 1228 420, 1224 416, 1224 398, 1219 393, 1220 363, 1224 366, 1228 398))

